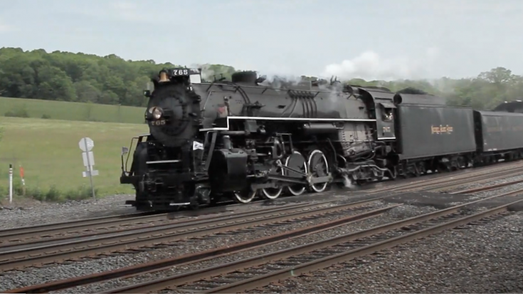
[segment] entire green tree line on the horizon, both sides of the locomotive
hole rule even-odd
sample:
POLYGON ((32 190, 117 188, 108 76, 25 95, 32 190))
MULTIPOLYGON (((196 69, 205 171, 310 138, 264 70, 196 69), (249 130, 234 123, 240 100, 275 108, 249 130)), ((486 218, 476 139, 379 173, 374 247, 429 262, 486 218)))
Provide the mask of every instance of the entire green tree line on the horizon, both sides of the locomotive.
MULTIPOLYGON (((110 105, 144 106, 142 90, 152 75, 172 63, 126 61, 119 56, 96 56, 43 49, 23 51, 0 48, 0 96, 42 100, 61 100, 110 105)), ((178 65, 179 66, 179 65, 178 65)), ((235 68, 204 65, 204 78, 230 79, 235 68)), ((437 80, 343 81, 351 85, 381 86, 392 91, 412 87, 443 95, 450 105, 492 109, 506 100, 523 98, 523 77, 507 68, 493 68, 473 78, 437 80)))

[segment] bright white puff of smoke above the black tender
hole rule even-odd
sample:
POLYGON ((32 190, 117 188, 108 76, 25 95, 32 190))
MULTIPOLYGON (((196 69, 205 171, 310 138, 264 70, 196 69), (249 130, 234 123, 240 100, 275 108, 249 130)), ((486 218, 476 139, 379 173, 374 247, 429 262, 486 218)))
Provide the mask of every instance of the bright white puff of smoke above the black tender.
POLYGON ((339 64, 327 65, 324 77, 337 76, 342 80, 401 80, 426 78, 433 72, 438 58, 438 48, 428 48, 421 58, 382 58, 374 51, 366 51, 356 58, 339 64))

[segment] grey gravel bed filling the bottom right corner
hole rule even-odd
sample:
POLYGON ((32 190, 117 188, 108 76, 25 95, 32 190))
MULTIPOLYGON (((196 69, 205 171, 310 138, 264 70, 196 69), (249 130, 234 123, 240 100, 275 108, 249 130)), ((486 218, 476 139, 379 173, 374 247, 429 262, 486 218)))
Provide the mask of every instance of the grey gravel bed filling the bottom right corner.
POLYGON ((517 212, 250 293, 521 293, 522 228, 517 212))

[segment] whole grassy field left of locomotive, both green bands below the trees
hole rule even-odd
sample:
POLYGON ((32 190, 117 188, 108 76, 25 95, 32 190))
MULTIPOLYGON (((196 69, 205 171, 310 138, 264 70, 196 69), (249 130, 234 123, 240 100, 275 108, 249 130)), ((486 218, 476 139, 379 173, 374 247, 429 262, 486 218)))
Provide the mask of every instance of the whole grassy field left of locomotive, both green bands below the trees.
POLYGON ((119 111, 113 105, 0 98, 0 115, 6 112, 22 117, 0 116, 0 199, 8 193, 9 164, 16 168, 19 193, 19 166, 23 166, 26 196, 51 201, 89 198, 90 182, 82 177, 85 167, 78 147, 82 137, 95 142, 95 169, 100 172, 93 178, 97 196, 134 192, 119 182, 120 150, 129 147, 133 136, 148 131, 142 107, 122 106, 119 111), (42 115, 52 119, 41 119, 42 115))

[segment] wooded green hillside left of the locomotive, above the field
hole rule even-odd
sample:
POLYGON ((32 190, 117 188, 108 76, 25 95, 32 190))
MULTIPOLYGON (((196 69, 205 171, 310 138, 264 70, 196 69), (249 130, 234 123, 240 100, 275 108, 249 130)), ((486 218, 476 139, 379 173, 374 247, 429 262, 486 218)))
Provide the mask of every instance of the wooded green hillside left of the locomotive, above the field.
MULTIPOLYGON (((147 82, 171 66, 152 60, 125 61, 115 55, 0 48, 0 96, 143 106, 147 82)), ((234 72, 225 65, 206 68, 229 77, 234 72)))

